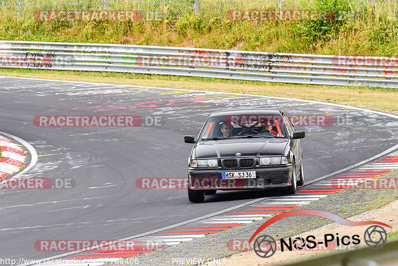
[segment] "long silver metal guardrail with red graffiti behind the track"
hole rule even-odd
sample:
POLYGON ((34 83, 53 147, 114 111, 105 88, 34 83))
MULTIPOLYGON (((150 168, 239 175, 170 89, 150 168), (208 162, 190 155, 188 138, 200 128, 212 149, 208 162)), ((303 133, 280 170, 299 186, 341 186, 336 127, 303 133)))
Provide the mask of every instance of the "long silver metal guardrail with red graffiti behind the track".
POLYGON ((398 58, 0 41, 0 67, 398 88, 398 58))

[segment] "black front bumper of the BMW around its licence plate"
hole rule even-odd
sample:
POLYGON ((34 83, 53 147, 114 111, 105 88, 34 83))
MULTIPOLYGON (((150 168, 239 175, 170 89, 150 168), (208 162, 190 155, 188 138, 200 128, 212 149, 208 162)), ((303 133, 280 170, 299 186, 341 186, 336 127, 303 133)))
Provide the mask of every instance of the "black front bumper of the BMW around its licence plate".
POLYGON ((193 190, 244 190, 284 188, 291 186, 292 165, 251 169, 197 169, 189 168, 189 187, 193 190), (256 178, 222 179, 222 172, 256 171, 256 178))

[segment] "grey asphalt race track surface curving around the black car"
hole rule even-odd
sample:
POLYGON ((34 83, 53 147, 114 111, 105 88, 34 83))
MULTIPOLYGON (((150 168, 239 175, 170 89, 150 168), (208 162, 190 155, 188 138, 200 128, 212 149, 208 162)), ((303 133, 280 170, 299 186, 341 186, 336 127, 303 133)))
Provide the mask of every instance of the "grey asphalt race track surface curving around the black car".
MULTIPOLYGON (((229 86, 229 85, 228 85, 229 86)), ((306 181, 397 144, 398 121, 363 110, 306 101, 135 86, 0 77, 0 131, 34 146, 38 163, 23 177, 72 178, 72 189, 0 190, 0 257, 43 259, 38 240, 117 240, 171 226, 278 192, 217 192, 202 204, 186 189, 140 189, 143 177, 185 178, 206 117, 220 110, 282 109, 327 115, 329 126, 297 127, 306 181), (37 127, 36 116, 162 117, 151 127, 37 127)))

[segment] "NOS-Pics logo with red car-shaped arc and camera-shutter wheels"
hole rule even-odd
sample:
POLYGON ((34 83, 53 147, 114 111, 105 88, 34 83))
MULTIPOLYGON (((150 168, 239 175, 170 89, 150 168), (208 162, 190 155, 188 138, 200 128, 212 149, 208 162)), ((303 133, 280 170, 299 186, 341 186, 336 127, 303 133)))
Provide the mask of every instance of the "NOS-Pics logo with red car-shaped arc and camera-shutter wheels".
MULTIPOLYGON (((285 212, 280 215, 277 215, 267 222, 265 222, 251 237, 250 242, 254 239, 256 235, 258 235, 262 230, 266 227, 271 225, 272 223, 289 216, 296 216, 296 215, 312 215, 312 216, 319 216, 323 218, 327 218, 338 222, 340 224, 348 225, 348 226, 361 226, 361 225, 368 225, 373 224, 368 229, 366 229, 364 234, 364 242, 371 248, 377 249, 383 247, 384 244, 387 242, 387 232, 386 230, 381 227, 380 225, 390 227, 389 225, 381 222, 375 221, 365 221, 365 222, 353 222, 349 221, 343 217, 335 215, 330 212, 326 211, 319 211, 319 210, 295 210, 290 212, 285 212), (376 224, 376 225, 375 225, 376 224)), ((278 243, 275 241, 274 238, 268 235, 262 235, 256 238, 253 243, 254 252, 261 258, 269 258, 275 254, 278 244, 280 247, 281 252, 284 251, 293 251, 295 250, 303 250, 306 249, 316 249, 317 245, 324 244, 327 248, 328 243, 336 241, 336 246, 348 246, 348 245, 358 245, 361 243, 359 235, 353 236, 339 236, 338 233, 334 234, 325 234, 323 241, 315 241, 315 236, 307 236, 305 239, 302 237, 297 237, 295 239, 288 238, 288 239, 279 239, 278 243)))

